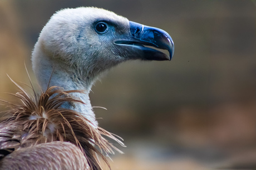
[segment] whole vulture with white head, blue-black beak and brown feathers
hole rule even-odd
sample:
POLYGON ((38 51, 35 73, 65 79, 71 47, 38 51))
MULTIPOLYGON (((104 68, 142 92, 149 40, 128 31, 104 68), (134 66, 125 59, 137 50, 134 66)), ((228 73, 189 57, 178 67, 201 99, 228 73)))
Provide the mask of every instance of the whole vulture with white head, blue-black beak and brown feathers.
POLYGON ((12 80, 19 87, 12 95, 21 102, 2 101, 9 110, 0 123, 0 169, 103 169, 100 160, 121 152, 107 139, 124 143, 98 126, 89 99, 93 83, 124 61, 171 60, 173 54, 173 40, 162 29, 95 7, 56 12, 32 51, 42 90, 31 84, 31 94, 12 80))

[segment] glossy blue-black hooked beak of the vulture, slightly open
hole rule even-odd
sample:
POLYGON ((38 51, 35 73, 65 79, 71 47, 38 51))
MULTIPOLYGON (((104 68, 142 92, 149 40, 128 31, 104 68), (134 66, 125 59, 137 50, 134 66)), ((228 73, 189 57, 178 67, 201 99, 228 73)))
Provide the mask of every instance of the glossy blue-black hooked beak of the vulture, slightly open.
POLYGON ((159 28, 148 27, 131 21, 129 23, 129 35, 115 41, 115 44, 120 45, 122 50, 125 50, 129 58, 159 61, 171 60, 174 54, 174 43, 168 33, 159 28), (168 50, 169 55, 150 47, 168 50))

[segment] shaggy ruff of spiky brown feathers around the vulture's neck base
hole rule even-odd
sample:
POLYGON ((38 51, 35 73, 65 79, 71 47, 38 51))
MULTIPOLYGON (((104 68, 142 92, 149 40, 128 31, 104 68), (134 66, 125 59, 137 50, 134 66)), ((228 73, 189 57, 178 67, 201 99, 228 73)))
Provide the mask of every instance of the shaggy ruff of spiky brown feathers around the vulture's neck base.
MULTIPOLYGON (((20 91, 12 95, 21 100, 21 104, 3 101, 9 110, 6 111, 6 118, 0 124, 2 163, 4 156, 10 153, 12 155, 19 150, 24 150, 25 147, 35 145, 39 147, 41 143, 51 145, 50 142, 53 141, 70 142, 78 147, 90 169, 102 169, 97 154, 109 166, 104 154, 113 154, 114 151, 122 153, 104 136, 124 146, 120 137, 103 128, 92 127, 90 122, 76 111, 61 108, 65 102, 84 104, 80 99, 72 96, 72 93, 82 93, 82 90, 65 91, 61 87, 52 86, 41 95, 31 96, 17 83, 14 82, 14 84, 20 91), (95 146, 99 147, 101 152, 95 146)), ((35 93, 35 90, 33 91, 35 93)))

